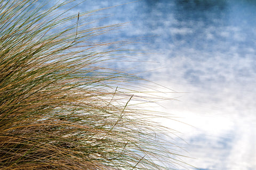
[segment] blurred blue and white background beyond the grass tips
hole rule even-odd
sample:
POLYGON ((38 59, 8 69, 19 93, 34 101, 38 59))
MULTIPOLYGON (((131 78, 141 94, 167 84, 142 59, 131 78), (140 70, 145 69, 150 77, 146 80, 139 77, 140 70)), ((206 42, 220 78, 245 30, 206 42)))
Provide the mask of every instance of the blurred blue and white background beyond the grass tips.
POLYGON ((148 62, 116 67, 153 70, 140 76, 186 92, 166 93, 177 100, 161 103, 186 123, 162 122, 187 142, 174 139, 193 157, 183 161, 202 170, 256 169, 256 1, 129 2, 87 0, 72 12, 124 4, 99 12, 108 18, 95 24, 129 22, 102 38, 138 38, 127 48, 145 50, 132 60, 148 62))

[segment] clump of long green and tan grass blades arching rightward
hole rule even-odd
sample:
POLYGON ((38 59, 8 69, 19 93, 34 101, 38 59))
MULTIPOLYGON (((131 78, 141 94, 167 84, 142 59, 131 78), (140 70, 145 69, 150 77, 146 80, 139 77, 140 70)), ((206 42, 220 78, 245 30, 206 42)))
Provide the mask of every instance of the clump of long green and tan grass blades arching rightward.
POLYGON ((125 41, 95 38, 121 25, 90 27, 93 11, 71 15, 69 3, 0 0, 0 169, 181 164, 147 120, 157 115, 129 103, 138 78, 111 67, 125 41))

